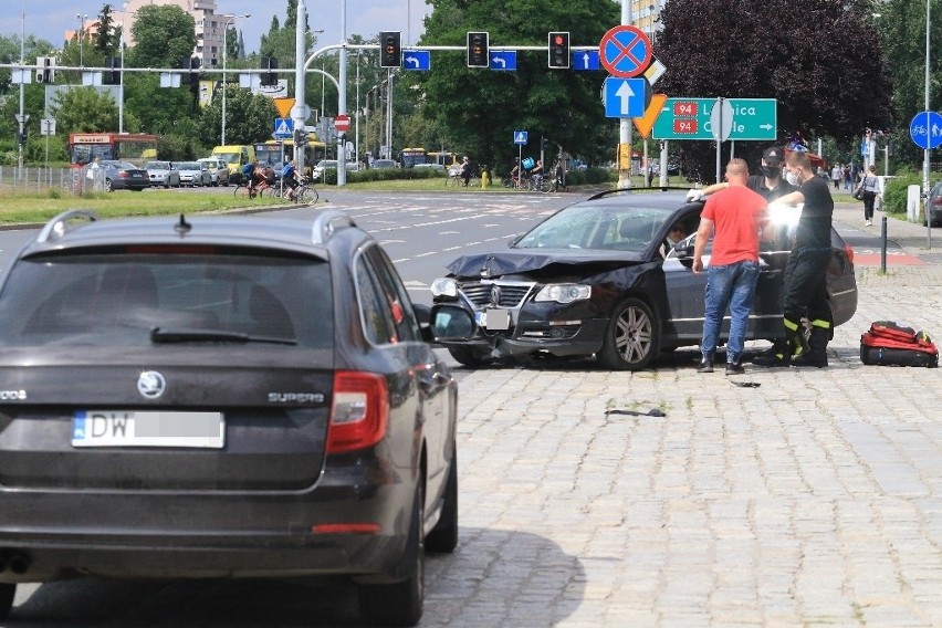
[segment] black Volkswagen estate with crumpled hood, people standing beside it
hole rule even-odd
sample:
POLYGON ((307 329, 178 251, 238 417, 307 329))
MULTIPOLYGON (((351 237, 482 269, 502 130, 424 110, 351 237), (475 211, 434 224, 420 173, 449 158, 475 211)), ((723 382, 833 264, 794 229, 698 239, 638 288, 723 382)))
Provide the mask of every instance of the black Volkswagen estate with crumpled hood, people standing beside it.
MULTIPOLYGON (((562 209, 506 250, 459 258, 432 283, 436 336, 468 366, 545 353, 638 370, 661 350, 698 345, 706 273, 691 266, 702 208, 682 191, 613 190, 562 209), (669 248, 674 224, 688 237, 669 248)), ((749 339, 784 335, 789 224, 777 224, 761 254, 749 339)), ((831 245, 828 294, 840 325, 857 310, 854 251, 834 230, 831 245)))

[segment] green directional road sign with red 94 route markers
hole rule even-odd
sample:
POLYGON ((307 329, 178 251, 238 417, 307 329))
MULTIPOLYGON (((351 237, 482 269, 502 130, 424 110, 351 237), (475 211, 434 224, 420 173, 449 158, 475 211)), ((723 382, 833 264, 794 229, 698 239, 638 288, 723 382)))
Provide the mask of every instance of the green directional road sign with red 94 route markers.
MULTIPOLYGON (((729 139, 775 139, 775 98, 728 98, 733 107, 729 139)), ((668 98, 655 122, 655 139, 713 139, 710 113, 718 98, 668 98)))

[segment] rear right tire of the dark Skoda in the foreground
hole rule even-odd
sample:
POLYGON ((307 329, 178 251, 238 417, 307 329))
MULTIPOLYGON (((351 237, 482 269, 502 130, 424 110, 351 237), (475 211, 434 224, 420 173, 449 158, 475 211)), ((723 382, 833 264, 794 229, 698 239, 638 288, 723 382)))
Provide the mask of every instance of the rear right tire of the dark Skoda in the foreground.
POLYGON ((419 484, 412 504, 412 521, 409 523, 409 542, 404 554, 404 559, 411 562, 406 565, 409 575, 401 582, 388 585, 359 585, 359 613, 369 624, 415 626, 422 618, 426 562, 423 520, 425 500, 419 484))

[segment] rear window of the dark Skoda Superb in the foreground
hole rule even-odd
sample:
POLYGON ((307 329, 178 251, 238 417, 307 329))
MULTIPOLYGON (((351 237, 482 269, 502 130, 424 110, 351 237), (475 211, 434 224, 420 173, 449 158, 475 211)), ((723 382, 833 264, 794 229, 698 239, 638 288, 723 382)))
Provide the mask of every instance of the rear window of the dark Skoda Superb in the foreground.
POLYGON ((0 346, 142 346, 151 332, 333 346, 329 265, 244 254, 21 260, 0 293, 0 346))

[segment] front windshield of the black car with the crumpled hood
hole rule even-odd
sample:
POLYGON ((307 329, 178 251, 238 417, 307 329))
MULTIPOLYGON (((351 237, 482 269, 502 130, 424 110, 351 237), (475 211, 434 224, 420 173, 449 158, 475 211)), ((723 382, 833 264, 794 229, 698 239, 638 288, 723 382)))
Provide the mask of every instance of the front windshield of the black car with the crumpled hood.
POLYGON ((673 212, 624 203, 572 206, 537 224, 513 247, 641 252, 663 233, 673 212))

